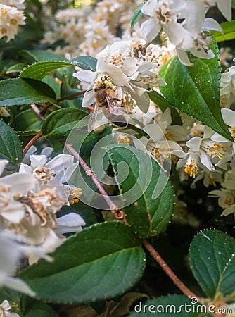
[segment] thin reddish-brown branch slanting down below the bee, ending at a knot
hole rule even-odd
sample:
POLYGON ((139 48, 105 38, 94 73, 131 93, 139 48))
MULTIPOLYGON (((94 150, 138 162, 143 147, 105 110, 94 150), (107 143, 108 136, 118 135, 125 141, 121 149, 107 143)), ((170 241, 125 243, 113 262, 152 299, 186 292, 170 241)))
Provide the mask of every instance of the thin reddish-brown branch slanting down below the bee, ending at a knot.
POLYGON ((117 205, 115 205, 113 203, 113 201, 110 199, 110 197, 106 193, 105 189, 103 189, 99 180, 97 180, 96 175, 93 173, 91 168, 89 168, 89 166, 82 159, 82 157, 77 153, 77 151, 75 151, 75 149, 72 147, 72 144, 68 144, 67 142, 65 142, 65 147, 66 147, 66 149, 68 149, 70 154, 72 154, 75 157, 75 159, 80 163, 80 166, 82 166, 82 168, 84 169, 87 176, 89 176, 91 178, 91 180, 93 180, 97 189, 99 189, 99 192, 103 196, 103 199, 105 199, 106 203, 110 207, 110 210, 112 211, 112 213, 115 213, 116 218, 118 218, 118 219, 124 218, 124 213, 122 212, 122 210, 117 205))

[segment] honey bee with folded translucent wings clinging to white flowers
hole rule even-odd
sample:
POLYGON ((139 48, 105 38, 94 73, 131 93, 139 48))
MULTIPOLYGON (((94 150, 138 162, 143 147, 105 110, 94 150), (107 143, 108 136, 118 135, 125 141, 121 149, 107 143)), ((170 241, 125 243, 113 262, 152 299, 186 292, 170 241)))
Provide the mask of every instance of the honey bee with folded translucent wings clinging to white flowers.
POLYGON ((89 120, 88 131, 91 132, 96 123, 101 119, 99 118, 100 112, 103 111, 104 116, 118 127, 127 127, 127 119, 124 116, 125 110, 122 108, 121 100, 113 97, 115 87, 108 76, 101 77, 97 85, 93 88, 95 95, 94 112, 91 113, 89 120))

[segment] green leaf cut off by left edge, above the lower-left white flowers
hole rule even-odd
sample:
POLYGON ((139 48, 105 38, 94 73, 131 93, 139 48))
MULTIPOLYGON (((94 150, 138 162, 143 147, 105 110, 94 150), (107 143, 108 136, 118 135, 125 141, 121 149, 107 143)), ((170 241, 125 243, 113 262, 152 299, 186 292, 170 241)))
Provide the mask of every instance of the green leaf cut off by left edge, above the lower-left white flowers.
POLYGON ((22 160, 22 147, 18 135, 3 120, 0 120, 0 158, 14 165, 22 160))

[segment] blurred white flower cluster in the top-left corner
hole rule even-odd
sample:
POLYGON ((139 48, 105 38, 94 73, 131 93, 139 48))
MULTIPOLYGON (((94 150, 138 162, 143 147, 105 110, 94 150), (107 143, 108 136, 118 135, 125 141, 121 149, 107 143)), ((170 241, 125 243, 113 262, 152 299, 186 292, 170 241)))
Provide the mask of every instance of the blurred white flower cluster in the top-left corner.
POLYGON ((0 39, 10 41, 18 33, 18 26, 25 25, 25 0, 1 0, 0 3, 0 39))

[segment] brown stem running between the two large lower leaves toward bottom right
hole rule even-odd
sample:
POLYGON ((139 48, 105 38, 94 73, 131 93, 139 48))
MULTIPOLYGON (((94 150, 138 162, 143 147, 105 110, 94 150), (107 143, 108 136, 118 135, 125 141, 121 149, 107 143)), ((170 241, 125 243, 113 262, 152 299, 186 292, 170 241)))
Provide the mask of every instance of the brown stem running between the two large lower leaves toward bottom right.
POLYGON ((197 297, 196 294, 191 292, 191 290, 189 290, 189 288, 186 287, 186 285, 184 285, 184 283, 181 280, 179 280, 177 275, 174 274, 174 272, 172 271, 170 266, 168 266, 167 263, 165 263, 163 258, 160 256, 160 254, 158 254, 158 252, 153 248, 153 246, 148 242, 148 240, 142 239, 142 242, 144 244, 144 247, 146 247, 146 249, 151 254, 151 256, 153 256, 153 259, 155 259, 155 261, 158 262, 160 267, 163 268, 163 270, 169 276, 169 278, 172 280, 172 282, 174 282, 174 285, 176 285, 179 288, 179 290, 181 290, 182 293, 184 293, 186 295, 186 297, 189 297, 189 298, 194 297, 194 298, 198 299, 198 302, 200 302, 201 299, 199 297, 197 297))

